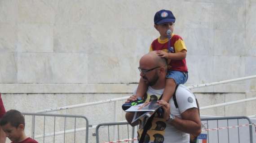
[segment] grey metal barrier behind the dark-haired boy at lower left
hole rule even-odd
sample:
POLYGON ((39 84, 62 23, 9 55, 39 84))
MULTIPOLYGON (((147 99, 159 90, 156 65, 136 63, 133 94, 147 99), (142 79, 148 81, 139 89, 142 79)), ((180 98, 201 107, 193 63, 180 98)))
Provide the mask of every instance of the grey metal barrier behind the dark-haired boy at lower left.
POLYGON ((26 134, 39 143, 88 143, 90 125, 84 116, 37 113, 22 115, 26 121, 26 134))

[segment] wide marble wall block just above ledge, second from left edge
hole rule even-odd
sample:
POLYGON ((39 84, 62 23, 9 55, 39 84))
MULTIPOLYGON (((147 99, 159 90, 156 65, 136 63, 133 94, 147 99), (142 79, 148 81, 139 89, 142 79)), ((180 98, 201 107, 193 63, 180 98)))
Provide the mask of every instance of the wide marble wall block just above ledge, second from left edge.
POLYGON ((18 55, 20 83, 87 83, 86 54, 22 53, 18 55))

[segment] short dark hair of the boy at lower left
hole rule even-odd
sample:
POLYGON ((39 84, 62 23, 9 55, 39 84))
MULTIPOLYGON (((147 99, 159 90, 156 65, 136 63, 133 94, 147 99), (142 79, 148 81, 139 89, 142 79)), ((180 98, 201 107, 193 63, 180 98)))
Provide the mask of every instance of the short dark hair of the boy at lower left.
POLYGON ((4 126, 8 123, 17 128, 20 124, 25 126, 25 119, 18 110, 11 109, 0 119, 0 126, 4 126))

